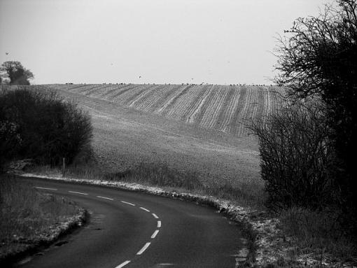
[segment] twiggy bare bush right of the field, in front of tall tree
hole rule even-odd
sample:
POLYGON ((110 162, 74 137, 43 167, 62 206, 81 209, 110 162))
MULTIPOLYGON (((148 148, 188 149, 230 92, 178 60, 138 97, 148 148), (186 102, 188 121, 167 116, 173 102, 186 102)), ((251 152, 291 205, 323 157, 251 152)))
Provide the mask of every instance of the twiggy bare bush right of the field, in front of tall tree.
POLYGON ((260 167, 272 209, 318 209, 331 200, 329 128, 317 101, 295 103, 255 122, 260 167))

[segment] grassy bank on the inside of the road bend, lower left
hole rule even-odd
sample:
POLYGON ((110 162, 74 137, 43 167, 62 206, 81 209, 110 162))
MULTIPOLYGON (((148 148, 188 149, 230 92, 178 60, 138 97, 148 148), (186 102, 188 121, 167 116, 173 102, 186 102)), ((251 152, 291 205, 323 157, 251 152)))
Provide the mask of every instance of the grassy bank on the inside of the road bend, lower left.
POLYGON ((0 263, 56 239, 80 213, 68 199, 38 192, 14 176, 0 175, 0 263))

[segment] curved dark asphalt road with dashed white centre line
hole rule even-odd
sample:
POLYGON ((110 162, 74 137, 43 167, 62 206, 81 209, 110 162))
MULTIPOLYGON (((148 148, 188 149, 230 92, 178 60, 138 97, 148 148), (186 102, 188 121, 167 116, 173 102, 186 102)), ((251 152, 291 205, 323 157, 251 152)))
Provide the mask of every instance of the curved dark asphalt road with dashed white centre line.
POLYGON ((235 267, 241 233, 214 209, 97 185, 20 180, 69 197, 92 215, 84 228, 60 239, 62 246, 18 267, 235 267))

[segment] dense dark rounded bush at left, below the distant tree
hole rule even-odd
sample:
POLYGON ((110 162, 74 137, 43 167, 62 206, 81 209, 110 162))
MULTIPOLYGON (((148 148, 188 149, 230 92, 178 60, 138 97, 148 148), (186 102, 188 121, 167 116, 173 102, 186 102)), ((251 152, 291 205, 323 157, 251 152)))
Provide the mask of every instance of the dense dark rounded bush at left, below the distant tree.
POLYGON ((33 158, 56 165, 65 157, 71 163, 91 137, 89 115, 55 92, 45 87, 1 88, 1 162, 33 158))

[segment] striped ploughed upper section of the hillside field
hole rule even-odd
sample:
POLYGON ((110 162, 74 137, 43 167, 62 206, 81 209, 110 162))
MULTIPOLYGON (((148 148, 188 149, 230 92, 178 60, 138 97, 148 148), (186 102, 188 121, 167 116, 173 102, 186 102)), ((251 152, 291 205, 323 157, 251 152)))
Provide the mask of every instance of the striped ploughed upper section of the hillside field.
POLYGON ((279 87, 244 85, 50 85, 235 136, 279 106, 279 87))

